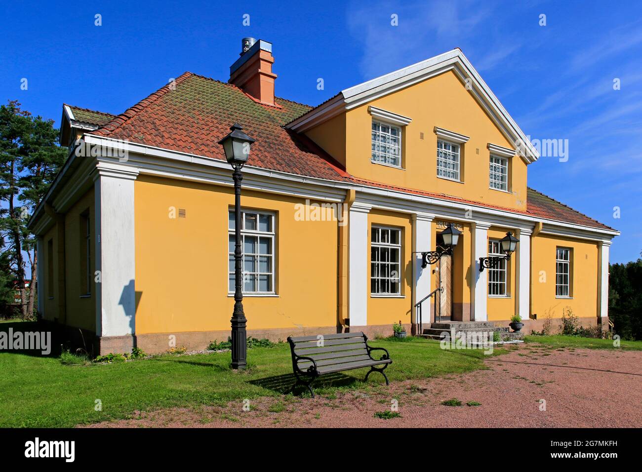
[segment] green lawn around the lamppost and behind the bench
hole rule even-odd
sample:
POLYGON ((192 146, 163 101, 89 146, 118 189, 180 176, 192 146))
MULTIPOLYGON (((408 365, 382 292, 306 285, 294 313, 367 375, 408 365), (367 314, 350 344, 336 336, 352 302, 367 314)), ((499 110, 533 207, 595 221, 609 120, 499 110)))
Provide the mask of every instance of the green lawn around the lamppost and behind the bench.
MULTIPOLYGON (((375 340, 393 360, 386 369, 391 381, 426 378, 481 369, 483 351, 440 349, 436 341, 375 340)), ((499 349, 495 353, 501 353, 499 349)), ((0 427, 67 427, 128 417, 135 410, 170 406, 221 405, 259 396, 281 397, 293 383, 290 347, 248 349, 250 368, 229 369, 230 354, 172 356, 126 363, 62 365, 57 358, 0 353, 0 427), (96 412, 96 399, 102 411, 96 412)), ((376 372, 361 380, 368 369, 321 378, 315 392, 330 395, 337 389, 385 389, 376 372)))

